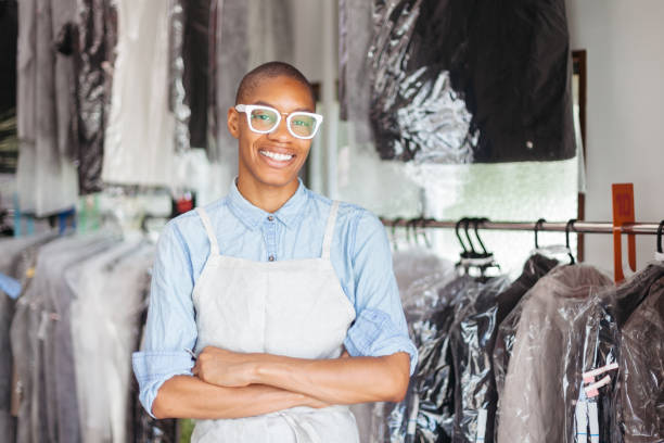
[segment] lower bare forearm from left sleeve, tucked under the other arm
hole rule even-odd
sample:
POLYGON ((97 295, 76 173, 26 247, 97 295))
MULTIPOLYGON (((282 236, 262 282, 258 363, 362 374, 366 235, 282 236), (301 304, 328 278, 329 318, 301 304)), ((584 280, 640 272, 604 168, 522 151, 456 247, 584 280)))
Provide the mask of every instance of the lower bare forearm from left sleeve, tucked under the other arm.
POLYGON ((176 376, 159 388, 152 413, 157 418, 241 418, 314 403, 306 395, 274 387, 225 388, 197 377, 176 376))

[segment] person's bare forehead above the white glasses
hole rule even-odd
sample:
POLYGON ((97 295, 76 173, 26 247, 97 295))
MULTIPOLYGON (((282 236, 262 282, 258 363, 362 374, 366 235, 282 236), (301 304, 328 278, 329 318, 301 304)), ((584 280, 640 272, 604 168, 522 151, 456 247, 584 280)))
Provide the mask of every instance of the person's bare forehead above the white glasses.
POLYGON ((270 104, 284 112, 294 110, 314 112, 316 107, 309 88, 286 76, 259 78, 246 94, 245 101, 247 104, 257 102, 270 104))

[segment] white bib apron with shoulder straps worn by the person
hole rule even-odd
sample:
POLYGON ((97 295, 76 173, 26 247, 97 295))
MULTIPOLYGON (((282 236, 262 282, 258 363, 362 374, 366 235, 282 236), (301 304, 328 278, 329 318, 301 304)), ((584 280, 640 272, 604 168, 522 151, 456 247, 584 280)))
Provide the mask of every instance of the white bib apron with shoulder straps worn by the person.
MULTIPOLYGON (((243 353, 336 358, 355 309, 330 262, 339 202, 332 204, 320 258, 253 262, 219 254, 205 210, 197 208, 210 254, 193 290, 196 355, 207 345, 243 353)), ((192 442, 359 442, 347 406, 295 407, 256 417, 200 420, 192 442)))

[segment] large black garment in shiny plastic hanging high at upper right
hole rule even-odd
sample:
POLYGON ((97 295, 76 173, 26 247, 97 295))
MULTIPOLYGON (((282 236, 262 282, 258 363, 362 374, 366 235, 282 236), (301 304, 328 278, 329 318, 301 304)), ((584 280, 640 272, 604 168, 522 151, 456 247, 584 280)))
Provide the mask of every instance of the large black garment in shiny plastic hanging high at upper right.
MULTIPOLYGON (((366 72, 382 159, 455 164, 575 155, 563 0, 373 5, 366 72)), ((344 22, 341 30, 345 63, 353 58, 344 51, 363 49, 344 22)), ((361 93, 353 86, 342 85, 342 100, 361 93)))

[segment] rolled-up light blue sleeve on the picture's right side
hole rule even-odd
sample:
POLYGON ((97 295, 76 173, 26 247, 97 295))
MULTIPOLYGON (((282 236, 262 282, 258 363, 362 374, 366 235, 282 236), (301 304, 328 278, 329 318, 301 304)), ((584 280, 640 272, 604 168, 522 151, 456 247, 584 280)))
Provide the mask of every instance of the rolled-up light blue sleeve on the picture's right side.
POLYGON ((353 250, 356 318, 344 346, 352 356, 406 352, 412 375, 418 350, 408 337, 385 228, 371 213, 363 213, 358 220, 353 250))

